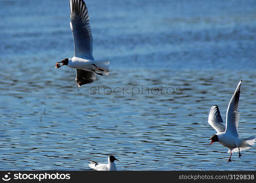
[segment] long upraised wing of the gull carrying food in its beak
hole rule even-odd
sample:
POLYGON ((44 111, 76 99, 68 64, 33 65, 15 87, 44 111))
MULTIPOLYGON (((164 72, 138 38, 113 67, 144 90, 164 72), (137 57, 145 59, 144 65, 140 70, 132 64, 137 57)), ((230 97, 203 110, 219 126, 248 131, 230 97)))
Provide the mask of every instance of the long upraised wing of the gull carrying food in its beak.
POLYGON ((94 60, 93 36, 87 7, 83 0, 69 0, 70 27, 73 33, 75 56, 94 60))

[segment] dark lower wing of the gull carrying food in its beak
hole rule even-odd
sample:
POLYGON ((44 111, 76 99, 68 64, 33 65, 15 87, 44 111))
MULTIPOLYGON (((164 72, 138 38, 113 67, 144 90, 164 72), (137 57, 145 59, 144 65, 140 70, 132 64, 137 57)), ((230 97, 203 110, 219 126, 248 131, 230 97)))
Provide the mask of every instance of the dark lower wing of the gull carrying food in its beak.
POLYGON ((87 83, 92 83, 96 79, 96 73, 93 71, 84 71, 81 69, 76 70, 76 84, 78 87, 87 84, 87 83))

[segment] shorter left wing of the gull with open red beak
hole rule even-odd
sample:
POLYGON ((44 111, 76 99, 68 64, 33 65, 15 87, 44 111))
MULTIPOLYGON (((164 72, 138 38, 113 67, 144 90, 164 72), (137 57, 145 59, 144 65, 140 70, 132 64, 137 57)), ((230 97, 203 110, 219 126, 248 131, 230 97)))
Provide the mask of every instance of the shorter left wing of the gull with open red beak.
POLYGON ((217 131, 217 133, 225 131, 225 126, 222 124, 223 120, 221 118, 220 110, 217 105, 213 105, 210 109, 208 123, 217 131))

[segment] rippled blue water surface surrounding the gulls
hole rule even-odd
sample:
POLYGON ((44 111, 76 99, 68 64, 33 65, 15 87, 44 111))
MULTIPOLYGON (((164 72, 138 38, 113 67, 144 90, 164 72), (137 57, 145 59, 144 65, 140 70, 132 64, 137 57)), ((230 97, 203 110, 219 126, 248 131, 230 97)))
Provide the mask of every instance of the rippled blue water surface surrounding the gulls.
POLYGON ((225 119, 243 79, 239 134, 256 134, 255 0, 86 4, 111 72, 78 90, 75 70, 54 67, 73 56, 68 1, 0 0, 0 170, 89 170, 85 158, 110 154, 120 170, 255 170, 256 146, 227 164, 207 122, 213 104, 225 119), (91 95, 97 85, 183 94, 91 95))

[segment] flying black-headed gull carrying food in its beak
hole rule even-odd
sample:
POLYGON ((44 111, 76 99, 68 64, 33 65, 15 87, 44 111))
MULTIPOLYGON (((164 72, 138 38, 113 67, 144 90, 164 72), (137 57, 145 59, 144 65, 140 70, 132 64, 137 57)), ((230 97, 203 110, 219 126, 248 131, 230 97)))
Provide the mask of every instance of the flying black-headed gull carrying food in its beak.
POLYGON ((80 87, 95 81, 97 75, 108 75, 109 61, 94 60, 93 36, 87 7, 83 0, 69 0, 70 27, 73 33, 75 54, 72 59, 66 58, 55 64, 55 68, 68 66, 76 69, 76 84, 80 87), (59 63, 62 63, 61 65, 59 63))

